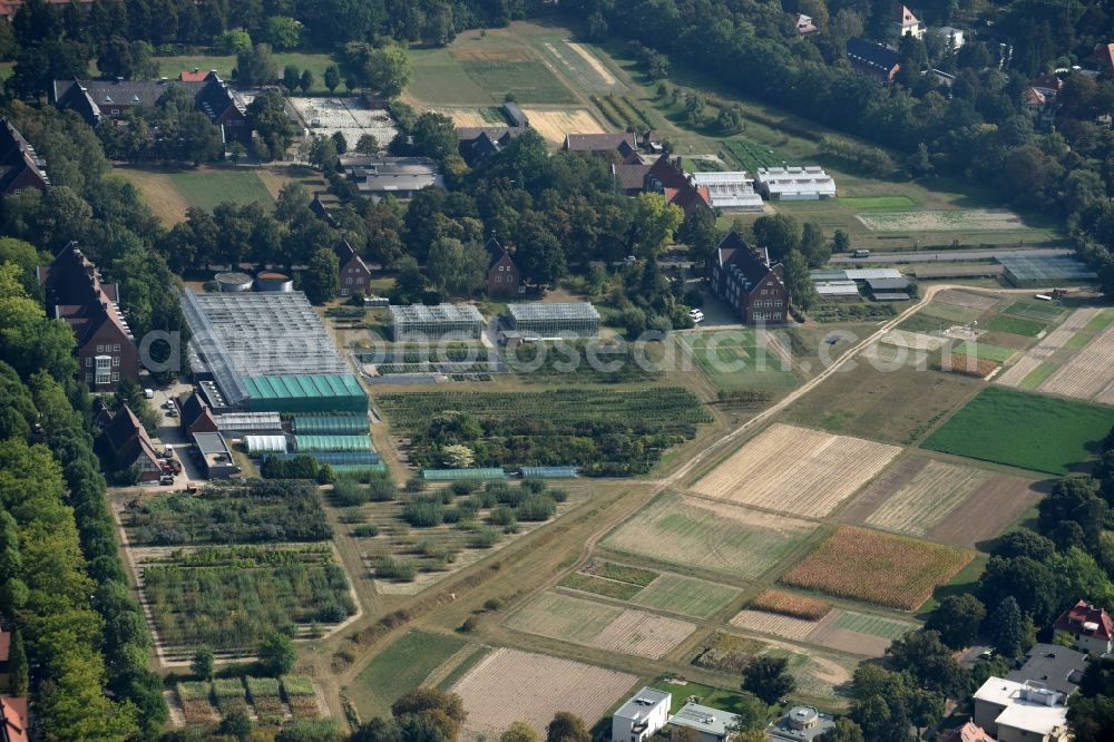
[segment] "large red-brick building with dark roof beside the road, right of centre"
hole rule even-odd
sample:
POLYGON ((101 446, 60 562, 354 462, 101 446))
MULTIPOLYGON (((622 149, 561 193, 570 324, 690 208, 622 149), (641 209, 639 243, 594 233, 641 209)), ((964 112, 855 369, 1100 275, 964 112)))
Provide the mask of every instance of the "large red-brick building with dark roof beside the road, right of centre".
POLYGON ((752 247, 731 232, 715 247, 709 275, 720 301, 734 310, 745 324, 786 322, 790 294, 785 267, 770 262, 762 247, 752 247))

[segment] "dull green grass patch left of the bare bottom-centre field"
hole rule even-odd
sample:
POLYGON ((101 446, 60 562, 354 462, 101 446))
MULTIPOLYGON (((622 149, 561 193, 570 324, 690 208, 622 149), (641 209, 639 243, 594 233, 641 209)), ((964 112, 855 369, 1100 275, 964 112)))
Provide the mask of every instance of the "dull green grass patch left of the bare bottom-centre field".
POLYGON ((421 685, 465 644, 455 636, 409 632, 368 663, 348 687, 349 696, 365 719, 387 714, 392 703, 421 685))

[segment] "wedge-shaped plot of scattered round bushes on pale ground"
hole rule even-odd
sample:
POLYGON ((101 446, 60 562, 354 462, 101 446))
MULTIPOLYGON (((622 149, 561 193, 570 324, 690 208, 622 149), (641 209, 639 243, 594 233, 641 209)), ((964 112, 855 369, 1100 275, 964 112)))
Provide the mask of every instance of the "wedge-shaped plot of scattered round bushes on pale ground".
MULTIPOLYGON (((544 520, 519 518, 517 507, 525 500, 518 487, 495 482, 469 495, 448 498, 437 525, 411 526, 404 520, 407 505, 419 497, 388 502, 368 502, 348 515, 356 543, 375 589, 388 595, 416 595, 465 567, 502 549, 536 528, 560 518, 586 502, 590 490, 583 485, 550 488, 543 497, 554 499, 555 510, 544 520), (556 497, 555 497, 556 496, 556 497), (564 497, 565 499, 556 501, 564 497), (518 505, 515 505, 515 504, 518 505), (452 523, 449 523, 452 520, 452 523), (514 533, 496 521, 515 525, 514 533)), ((439 490, 443 500, 452 489, 439 490)), ((437 509, 437 506, 434 506, 437 509)), ((436 512, 433 520, 437 520, 436 512)))

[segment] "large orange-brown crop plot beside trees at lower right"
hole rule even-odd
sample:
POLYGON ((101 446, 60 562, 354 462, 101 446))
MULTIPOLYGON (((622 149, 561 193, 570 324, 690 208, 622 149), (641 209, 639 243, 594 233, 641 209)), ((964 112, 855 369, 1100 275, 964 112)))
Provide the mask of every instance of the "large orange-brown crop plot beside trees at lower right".
POLYGON ((974 551, 841 526, 782 577, 786 585, 915 611, 974 551))

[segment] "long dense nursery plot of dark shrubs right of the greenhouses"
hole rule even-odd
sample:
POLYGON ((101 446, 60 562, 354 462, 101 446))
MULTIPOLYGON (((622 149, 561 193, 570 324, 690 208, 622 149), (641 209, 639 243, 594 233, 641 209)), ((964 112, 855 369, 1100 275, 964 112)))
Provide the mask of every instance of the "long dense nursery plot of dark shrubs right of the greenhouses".
POLYGON ((477 467, 577 466, 586 476, 647 472, 712 417, 687 389, 383 394, 379 407, 409 458, 430 468, 447 446, 477 467), (509 414, 509 411, 514 414, 509 414))

